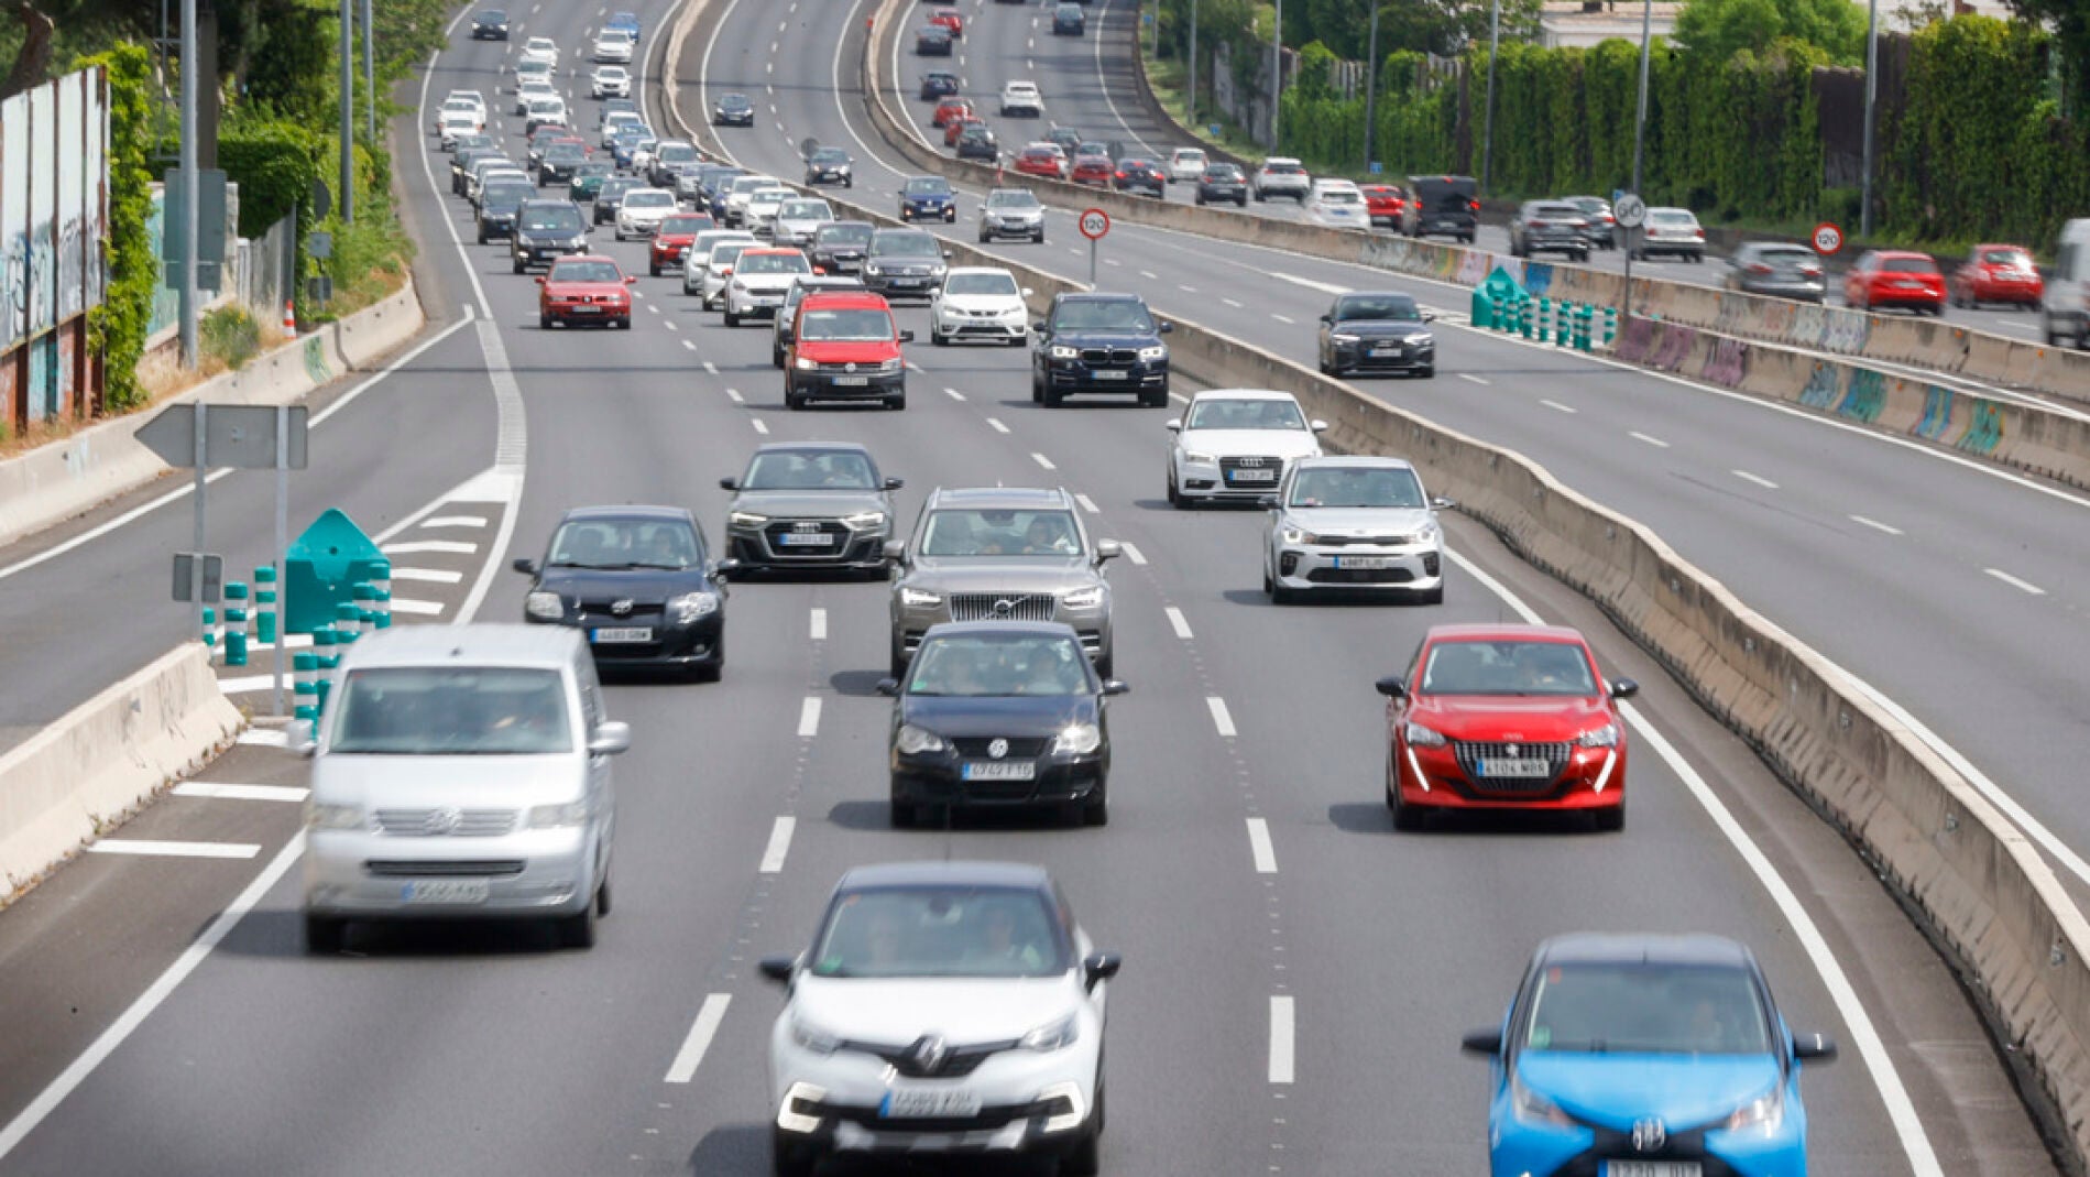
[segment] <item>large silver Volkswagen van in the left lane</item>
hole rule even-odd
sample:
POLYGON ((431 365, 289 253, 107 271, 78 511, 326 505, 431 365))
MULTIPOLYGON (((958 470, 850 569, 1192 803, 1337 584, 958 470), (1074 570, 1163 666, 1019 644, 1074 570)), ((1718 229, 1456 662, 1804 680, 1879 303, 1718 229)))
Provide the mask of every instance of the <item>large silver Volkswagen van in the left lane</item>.
POLYGON ((617 794, 596 663, 558 625, 408 625, 349 648, 305 809, 305 947, 349 920, 550 918, 571 947, 610 909, 617 794))

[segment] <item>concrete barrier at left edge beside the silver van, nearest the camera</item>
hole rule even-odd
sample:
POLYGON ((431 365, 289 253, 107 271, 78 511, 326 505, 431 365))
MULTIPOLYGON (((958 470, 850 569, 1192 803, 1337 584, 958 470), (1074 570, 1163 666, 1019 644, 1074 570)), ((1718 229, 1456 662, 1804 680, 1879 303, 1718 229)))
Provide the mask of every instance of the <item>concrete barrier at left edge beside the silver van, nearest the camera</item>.
POLYGON ((0 905, 242 725, 205 646, 184 642, 0 755, 0 905))

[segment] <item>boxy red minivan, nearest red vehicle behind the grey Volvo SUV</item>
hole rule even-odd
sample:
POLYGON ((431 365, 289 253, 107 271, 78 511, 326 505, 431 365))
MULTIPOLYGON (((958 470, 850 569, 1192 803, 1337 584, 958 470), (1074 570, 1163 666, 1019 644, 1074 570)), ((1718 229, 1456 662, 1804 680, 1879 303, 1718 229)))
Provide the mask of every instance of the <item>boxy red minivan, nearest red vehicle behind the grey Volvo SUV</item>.
POLYGON ((901 330, 884 295, 869 291, 815 291, 798 303, 784 357, 784 408, 807 401, 880 399, 907 408, 907 360, 901 330))

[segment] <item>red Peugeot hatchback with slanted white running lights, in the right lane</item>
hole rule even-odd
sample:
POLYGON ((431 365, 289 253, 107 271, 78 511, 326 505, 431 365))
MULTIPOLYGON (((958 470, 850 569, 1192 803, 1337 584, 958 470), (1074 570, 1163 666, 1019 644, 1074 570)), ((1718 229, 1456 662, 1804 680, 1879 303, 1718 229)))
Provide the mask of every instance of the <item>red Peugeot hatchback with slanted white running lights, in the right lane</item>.
POLYGON ((1574 629, 1436 625, 1386 702, 1386 807, 1396 830, 1448 809, 1568 809, 1626 828, 1626 725, 1574 629))

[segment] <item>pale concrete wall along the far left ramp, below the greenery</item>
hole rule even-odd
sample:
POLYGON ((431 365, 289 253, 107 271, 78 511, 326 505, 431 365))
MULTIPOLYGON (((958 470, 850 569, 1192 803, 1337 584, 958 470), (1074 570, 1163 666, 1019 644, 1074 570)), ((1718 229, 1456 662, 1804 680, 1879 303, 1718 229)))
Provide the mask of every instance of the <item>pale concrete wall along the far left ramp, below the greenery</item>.
POLYGON ((334 376, 368 366, 422 328, 414 284, 274 347, 238 372, 213 376, 144 412, 107 420, 0 462, 0 546, 63 523, 75 514, 165 475, 169 466, 140 445, 138 431, 159 408, 184 401, 282 406, 305 397, 334 376))

